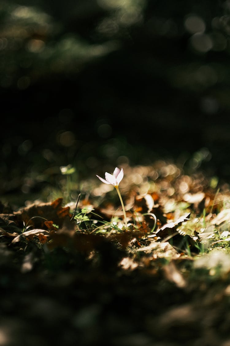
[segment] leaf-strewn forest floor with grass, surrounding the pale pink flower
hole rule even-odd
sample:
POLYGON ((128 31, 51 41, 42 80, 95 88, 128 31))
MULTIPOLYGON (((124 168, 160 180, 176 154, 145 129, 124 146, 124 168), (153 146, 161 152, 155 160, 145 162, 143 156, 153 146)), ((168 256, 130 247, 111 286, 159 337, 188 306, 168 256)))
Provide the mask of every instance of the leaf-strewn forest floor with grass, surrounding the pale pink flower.
POLYGON ((1 203, 1 346, 230 345, 229 185, 123 169, 127 229, 113 185, 73 200, 74 170, 49 201, 1 203))

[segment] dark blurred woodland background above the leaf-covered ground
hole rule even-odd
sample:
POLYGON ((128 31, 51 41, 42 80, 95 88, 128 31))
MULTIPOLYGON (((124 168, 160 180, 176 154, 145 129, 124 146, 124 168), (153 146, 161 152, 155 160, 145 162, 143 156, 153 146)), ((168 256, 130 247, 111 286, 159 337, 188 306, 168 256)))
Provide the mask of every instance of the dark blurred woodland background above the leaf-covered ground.
POLYGON ((0 195, 159 158, 229 181, 229 54, 230 1, 1 1, 0 195))

